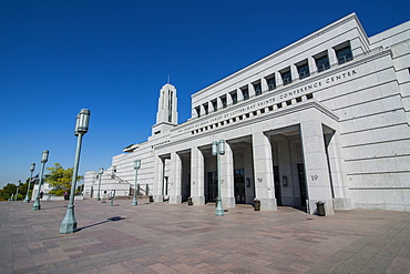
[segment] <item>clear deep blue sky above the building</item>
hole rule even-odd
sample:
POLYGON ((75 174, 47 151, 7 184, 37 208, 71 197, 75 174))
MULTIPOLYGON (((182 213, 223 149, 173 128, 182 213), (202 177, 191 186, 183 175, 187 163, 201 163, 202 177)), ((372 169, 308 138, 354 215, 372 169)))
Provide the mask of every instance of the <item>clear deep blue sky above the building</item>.
POLYGON ((143 142, 157 97, 191 94, 356 12, 368 35, 408 21, 409 1, 0 0, 0 187, 72 168, 75 115, 91 110, 80 174, 143 142))

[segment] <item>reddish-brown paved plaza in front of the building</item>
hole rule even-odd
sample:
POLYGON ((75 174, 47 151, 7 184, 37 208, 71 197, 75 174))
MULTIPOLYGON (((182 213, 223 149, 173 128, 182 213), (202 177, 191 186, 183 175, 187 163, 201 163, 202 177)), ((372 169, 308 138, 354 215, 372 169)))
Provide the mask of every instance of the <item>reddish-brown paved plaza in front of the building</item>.
POLYGON ((0 202, 0 273, 410 273, 410 213, 89 199, 59 234, 66 201, 31 205, 0 202))

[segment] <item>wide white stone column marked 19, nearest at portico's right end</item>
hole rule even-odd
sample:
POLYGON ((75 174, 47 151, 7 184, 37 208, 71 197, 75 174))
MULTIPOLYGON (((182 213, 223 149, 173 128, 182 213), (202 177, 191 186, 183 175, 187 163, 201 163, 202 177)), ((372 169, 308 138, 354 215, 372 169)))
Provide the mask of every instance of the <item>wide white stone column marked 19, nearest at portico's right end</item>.
POLYGON ((325 202, 326 214, 334 214, 329 170, 322 125, 319 120, 300 124, 307 184, 308 213, 314 214, 316 202, 325 202))

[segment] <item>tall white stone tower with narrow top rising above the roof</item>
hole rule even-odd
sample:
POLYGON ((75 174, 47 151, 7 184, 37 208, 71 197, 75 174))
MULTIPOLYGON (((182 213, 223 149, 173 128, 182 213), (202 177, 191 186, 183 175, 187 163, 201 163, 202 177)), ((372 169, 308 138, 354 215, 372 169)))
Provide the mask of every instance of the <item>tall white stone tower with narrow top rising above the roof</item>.
POLYGON ((170 131, 178 123, 176 89, 171 83, 164 84, 160 90, 158 111, 156 123, 152 126, 152 135, 170 131))

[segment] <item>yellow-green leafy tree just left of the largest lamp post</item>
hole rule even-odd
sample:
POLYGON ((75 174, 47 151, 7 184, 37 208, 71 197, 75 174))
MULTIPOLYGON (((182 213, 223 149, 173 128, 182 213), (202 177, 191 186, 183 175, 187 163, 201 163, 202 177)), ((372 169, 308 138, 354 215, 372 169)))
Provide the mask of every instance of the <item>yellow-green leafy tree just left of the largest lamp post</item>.
MULTIPOLYGON (((64 192, 69 192, 71 189, 71 180, 73 176, 74 168, 64 169, 61 166, 60 163, 54 163, 54 166, 47 168, 49 174, 45 176, 45 182, 48 182, 53 190, 50 191, 51 194, 55 194, 57 196, 64 195, 64 192)), ((76 176, 76 182, 82 180, 83 176, 76 176)))

